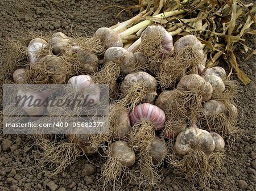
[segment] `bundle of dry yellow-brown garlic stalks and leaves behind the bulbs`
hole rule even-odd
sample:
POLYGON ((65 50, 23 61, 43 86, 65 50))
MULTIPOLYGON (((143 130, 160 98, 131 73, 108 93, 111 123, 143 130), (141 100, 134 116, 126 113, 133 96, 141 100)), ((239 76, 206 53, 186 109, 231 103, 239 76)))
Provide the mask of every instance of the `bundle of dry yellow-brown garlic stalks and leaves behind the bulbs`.
POLYGON ((237 46, 242 46, 241 53, 249 52, 245 61, 255 54, 255 50, 244 44, 246 34, 256 34, 255 30, 250 28, 251 24, 256 23, 256 9, 253 3, 245 5, 239 0, 141 0, 138 6, 128 7, 125 10, 138 7, 141 9, 140 14, 129 21, 110 27, 119 33, 125 48, 137 49, 142 40, 143 30, 148 25, 160 25, 175 37, 175 41, 180 36, 188 34, 196 36, 205 46, 207 67, 221 63, 228 67, 229 76, 234 69, 243 84, 250 82, 246 74, 239 69, 234 50, 237 46))

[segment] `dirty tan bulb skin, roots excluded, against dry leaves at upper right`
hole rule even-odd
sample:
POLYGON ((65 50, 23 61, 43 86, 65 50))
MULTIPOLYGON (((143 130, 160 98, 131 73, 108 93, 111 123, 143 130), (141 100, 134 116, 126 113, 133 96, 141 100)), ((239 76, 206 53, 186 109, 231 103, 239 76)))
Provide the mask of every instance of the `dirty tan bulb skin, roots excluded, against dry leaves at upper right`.
POLYGON ((174 43, 174 51, 177 53, 179 53, 180 51, 182 51, 184 48, 187 48, 187 47, 193 50, 191 52, 191 56, 199 57, 199 61, 200 61, 199 63, 205 66, 207 57, 204 55, 203 45, 197 39, 197 37, 193 35, 185 35, 174 43), (195 52, 197 53, 195 54, 195 52))

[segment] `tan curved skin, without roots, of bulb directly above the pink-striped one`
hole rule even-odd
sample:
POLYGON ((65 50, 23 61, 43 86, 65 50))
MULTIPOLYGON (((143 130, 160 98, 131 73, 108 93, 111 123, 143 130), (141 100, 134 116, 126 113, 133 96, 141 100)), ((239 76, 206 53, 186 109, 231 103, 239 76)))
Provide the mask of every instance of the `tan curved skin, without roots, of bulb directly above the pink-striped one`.
POLYGON ((155 102, 157 82, 152 75, 144 71, 128 74, 120 85, 120 91, 121 93, 127 92, 135 86, 147 88, 147 92, 143 95, 143 99, 141 100, 142 103, 153 104, 155 102))

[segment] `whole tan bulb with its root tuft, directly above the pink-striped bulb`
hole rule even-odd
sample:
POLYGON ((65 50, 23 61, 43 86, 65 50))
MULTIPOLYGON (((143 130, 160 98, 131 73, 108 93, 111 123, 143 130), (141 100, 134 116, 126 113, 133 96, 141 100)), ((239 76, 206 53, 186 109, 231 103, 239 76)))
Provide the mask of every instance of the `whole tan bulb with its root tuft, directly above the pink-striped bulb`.
POLYGON ((138 103, 153 104, 157 95, 156 86, 155 78, 144 71, 128 74, 120 85, 120 103, 127 108, 134 108, 138 103))

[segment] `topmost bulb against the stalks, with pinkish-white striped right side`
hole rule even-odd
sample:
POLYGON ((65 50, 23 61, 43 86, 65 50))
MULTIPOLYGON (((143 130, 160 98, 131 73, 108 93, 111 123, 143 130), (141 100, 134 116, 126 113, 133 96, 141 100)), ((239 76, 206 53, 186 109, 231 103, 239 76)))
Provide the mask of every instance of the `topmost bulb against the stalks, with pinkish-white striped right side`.
MULTIPOLYGON (((152 44, 160 43, 160 55, 168 54, 172 50, 172 36, 161 26, 148 26, 141 34, 142 46, 144 41, 151 41, 152 44), (152 36, 151 36, 152 35, 152 36), (154 37, 155 36, 155 37, 154 37)), ((150 48, 150 47, 149 47, 150 48)))

